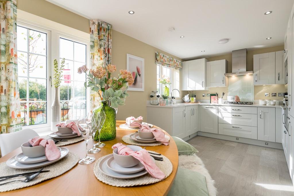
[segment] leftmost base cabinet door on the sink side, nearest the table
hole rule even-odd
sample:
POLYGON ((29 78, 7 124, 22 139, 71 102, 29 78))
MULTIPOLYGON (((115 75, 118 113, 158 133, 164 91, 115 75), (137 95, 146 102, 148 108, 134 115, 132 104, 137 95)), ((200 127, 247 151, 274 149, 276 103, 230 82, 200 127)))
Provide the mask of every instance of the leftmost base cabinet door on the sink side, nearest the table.
POLYGON ((185 137, 185 107, 173 108, 173 136, 178 138, 185 137))

